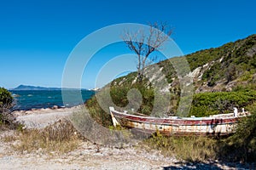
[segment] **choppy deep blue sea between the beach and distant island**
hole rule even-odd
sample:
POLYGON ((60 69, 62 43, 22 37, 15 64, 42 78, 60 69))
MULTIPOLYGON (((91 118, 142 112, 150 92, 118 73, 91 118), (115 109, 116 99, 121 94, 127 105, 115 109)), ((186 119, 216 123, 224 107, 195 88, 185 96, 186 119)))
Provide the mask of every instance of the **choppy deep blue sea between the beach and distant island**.
POLYGON ((20 90, 10 91, 15 98, 13 111, 59 107, 72 107, 83 104, 90 99, 95 91, 90 90, 65 90, 65 102, 63 102, 61 90, 20 90), (82 99, 81 99, 82 96, 82 99))

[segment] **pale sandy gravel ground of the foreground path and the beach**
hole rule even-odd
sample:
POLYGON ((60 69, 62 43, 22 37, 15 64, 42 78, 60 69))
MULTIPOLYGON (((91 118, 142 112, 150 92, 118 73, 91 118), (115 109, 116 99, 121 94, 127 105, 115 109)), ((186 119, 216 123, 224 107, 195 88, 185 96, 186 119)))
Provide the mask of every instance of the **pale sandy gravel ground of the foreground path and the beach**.
MULTIPOLYGON (((17 120, 27 128, 45 127, 71 114, 74 109, 37 110, 15 112, 17 120)), ((137 147, 116 149, 82 142, 77 150, 64 155, 17 153, 12 143, 3 141, 4 136, 14 135, 14 131, 0 132, 0 169, 247 169, 240 164, 220 162, 183 164, 175 157, 165 157, 160 152, 140 150, 137 147)))

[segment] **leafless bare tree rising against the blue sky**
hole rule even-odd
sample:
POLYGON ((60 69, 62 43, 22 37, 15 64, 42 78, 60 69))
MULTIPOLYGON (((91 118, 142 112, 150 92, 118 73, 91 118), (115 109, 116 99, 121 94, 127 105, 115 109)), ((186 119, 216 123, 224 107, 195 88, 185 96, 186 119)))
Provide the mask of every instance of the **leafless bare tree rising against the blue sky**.
POLYGON ((149 31, 125 31, 124 42, 131 51, 137 54, 137 78, 139 82, 143 81, 145 68, 148 65, 148 56, 160 49, 171 34, 172 29, 166 23, 157 22, 149 24, 149 31))

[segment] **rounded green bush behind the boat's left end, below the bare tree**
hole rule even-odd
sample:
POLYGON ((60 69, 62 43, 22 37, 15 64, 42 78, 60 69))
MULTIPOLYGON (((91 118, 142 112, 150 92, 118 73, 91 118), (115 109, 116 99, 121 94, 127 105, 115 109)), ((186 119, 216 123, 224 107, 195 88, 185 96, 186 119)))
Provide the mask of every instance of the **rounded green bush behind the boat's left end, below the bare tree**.
MULTIPOLYGON (((154 89, 152 88, 146 88, 146 86, 134 84, 134 85, 120 85, 120 86, 112 86, 109 90, 102 89, 101 92, 98 92, 96 96, 92 97, 86 102, 86 106, 88 107, 90 111, 90 115, 93 116, 97 122, 100 122, 102 124, 108 125, 110 116, 108 116, 108 107, 113 106, 111 105, 112 102, 114 105, 124 108, 128 103, 130 102, 130 105, 134 105, 132 108, 136 108, 136 105, 139 105, 139 112, 149 115, 151 114, 152 108, 154 106, 154 89), (140 105, 139 100, 128 100, 127 95, 131 89, 137 89, 143 96, 143 103, 140 105), (111 96, 111 101, 108 101, 108 95, 111 96), (99 101, 97 101, 97 98, 100 98, 103 100, 102 105, 99 105, 99 101)), ((133 96, 136 98, 136 96, 133 96)))

